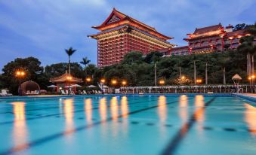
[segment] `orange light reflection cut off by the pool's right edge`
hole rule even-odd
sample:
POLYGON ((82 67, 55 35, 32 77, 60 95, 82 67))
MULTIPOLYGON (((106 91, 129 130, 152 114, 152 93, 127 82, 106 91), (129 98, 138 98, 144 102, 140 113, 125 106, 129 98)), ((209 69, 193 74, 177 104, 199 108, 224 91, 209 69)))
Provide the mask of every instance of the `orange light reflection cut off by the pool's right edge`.
POLYGON ((245 122, 252 135, 256 135, 256 108, 245 104, 245 122))

